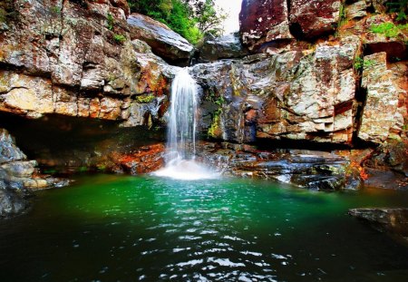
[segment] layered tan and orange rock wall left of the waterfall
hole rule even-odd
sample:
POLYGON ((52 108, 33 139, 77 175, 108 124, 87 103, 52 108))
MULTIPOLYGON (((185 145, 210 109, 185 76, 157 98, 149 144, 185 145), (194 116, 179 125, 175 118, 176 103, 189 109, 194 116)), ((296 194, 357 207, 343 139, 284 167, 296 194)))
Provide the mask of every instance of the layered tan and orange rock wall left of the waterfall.
POLYGON ((145 102, 140 96, 160 108, 172 69, 147 44, 131 41, 126 1, 81 3, 10 4, 15 16, 6 18, 0 40, 0 111, 146 122, 131 109, 145 102))

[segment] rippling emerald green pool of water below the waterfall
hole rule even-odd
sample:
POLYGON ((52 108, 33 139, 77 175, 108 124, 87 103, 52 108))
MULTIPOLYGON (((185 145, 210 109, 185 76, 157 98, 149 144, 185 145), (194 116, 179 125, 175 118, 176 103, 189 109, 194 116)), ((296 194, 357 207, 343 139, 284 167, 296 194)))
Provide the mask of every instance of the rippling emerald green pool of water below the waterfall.
POLYGON ((87 176, 0 222, 0 281, 408 281, 408 248, 349 208, 386 190, 87 176))

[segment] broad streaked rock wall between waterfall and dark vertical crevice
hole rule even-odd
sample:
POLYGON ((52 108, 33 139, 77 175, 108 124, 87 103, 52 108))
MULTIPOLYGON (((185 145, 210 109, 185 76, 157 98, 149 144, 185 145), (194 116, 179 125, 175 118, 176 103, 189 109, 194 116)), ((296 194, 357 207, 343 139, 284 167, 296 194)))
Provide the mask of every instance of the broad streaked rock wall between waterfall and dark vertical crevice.
POLYGON ((358 37, 318 44, 315 53, 257 55, 199 64, 202 127, 209 137, 349 143, 355 117, 358 37), (207 110, 207 111, 206 111, 207 110))

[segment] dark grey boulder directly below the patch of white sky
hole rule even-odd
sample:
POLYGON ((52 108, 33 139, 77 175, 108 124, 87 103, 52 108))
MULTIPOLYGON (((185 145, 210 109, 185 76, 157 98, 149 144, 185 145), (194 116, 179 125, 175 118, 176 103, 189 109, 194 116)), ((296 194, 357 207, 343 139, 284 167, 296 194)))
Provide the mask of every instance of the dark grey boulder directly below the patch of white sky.
POLYGON ((221 37, 207 35, 204 43, 199 47, 199 62, 212 62, 219 59, 239 58, 248 51, 239 41, 239 34, 227 34, 221 37))

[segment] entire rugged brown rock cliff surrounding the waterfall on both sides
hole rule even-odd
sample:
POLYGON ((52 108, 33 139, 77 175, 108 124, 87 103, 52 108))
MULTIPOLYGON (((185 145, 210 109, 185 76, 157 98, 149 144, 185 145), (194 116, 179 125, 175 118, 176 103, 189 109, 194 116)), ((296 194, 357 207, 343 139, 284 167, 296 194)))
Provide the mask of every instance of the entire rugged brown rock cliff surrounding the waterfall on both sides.
POLYGON ((0 127, 47 170, 155 170, 173 64, 193 60, 206 62, 189 69, 200 87, 201 138, 213 144, 200 145, 203 159, 222 166, 209 152, 228 153, 232 174, 317 189, 393 170, 406 187, 408 27, 386 6, 244 0, 239 38, 208 37, 197 50, 165 25, 130 15, 123 0, 7 0, 0 127), (34 138, 30 128, 53 138, 34 138), (274 162, 281 157, 284 166, 274 162))

